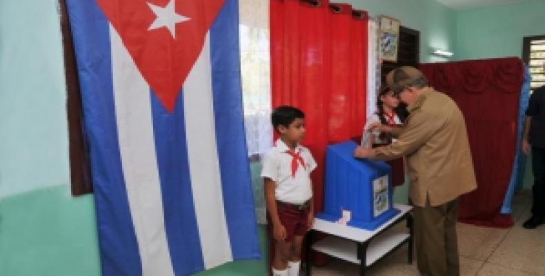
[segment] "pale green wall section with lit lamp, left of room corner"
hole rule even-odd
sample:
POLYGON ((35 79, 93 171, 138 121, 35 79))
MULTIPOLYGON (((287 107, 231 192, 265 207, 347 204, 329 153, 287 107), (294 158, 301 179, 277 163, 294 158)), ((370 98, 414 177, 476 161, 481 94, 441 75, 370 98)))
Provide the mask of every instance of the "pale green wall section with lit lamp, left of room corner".
POLYGON ((372 16, 386 14, 399 19, 402 26, 419 30, 420 61, 448 61, 431 54, 431 48, 453 51, 456 44, 455 12, 435 0, 334 0, 367 10, 372 16))

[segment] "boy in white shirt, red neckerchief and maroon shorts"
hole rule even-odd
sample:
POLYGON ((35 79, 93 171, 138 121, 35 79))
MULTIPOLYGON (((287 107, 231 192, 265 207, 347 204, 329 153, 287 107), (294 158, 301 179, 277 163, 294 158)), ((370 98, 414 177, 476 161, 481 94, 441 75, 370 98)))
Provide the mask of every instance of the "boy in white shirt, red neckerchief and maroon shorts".
POLYGON ((299 145, 305 136, 304 118, 291 106, 280 106, 271 115, 280 138, 264 157, 261 177, 276 240, 273 276, 299 275, 301 244, 314 219, 310 172, 316 161, 299 145))

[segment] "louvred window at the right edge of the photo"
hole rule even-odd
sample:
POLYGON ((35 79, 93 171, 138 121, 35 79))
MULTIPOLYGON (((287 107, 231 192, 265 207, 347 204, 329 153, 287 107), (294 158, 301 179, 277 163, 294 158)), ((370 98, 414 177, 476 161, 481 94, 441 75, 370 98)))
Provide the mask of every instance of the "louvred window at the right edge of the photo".
POLYGON ((530 66, 531 90, 545 85, 545 35, 524 37, 522 59, 530 66))

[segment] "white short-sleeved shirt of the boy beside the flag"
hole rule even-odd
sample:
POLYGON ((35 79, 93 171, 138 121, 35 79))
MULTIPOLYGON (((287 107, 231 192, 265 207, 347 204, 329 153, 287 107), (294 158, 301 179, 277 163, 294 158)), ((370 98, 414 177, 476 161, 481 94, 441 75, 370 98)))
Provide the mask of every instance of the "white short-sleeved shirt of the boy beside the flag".
POLYGON ((275 146, 266 153, 263 159, 261 177, 267 177, 276 183, 275 197, 278 201, 290 204, 303 204, 313 196, 313 189, 310 184, 310 172, 317 164, 310 150, 304 146, 297 145, 295 152, 305 161, 305 166, 297 167, 295 177, 291 175, 291 161, 293 157, 286 153, 288 146, 281 139, 275 141, 275 146))

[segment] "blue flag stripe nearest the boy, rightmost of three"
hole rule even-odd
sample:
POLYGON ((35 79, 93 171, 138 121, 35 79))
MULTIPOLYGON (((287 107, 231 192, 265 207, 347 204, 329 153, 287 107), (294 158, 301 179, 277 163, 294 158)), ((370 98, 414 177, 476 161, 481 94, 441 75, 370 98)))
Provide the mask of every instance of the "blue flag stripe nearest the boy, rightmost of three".
POLYGON ((212 92, 221 184, 234 259, 261 257, 242 107, 238 1, 228 0, 210 28, 212 92))

